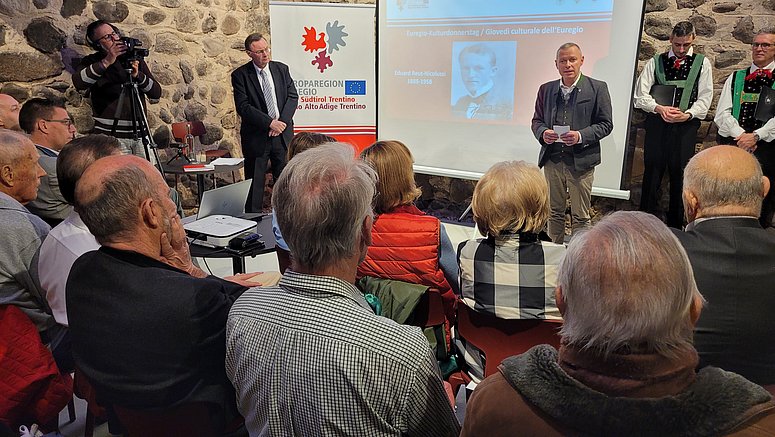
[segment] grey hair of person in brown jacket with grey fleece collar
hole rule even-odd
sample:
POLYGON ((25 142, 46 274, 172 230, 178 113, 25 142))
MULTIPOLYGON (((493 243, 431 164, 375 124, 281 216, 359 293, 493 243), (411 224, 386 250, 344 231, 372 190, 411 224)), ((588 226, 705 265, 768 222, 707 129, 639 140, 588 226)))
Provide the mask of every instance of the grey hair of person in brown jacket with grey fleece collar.
POLYGON ((615 212, 574 237, 560 264, 563 343, 606 356, 691 347, 697 290, 689 258, 659 219, 615 212))

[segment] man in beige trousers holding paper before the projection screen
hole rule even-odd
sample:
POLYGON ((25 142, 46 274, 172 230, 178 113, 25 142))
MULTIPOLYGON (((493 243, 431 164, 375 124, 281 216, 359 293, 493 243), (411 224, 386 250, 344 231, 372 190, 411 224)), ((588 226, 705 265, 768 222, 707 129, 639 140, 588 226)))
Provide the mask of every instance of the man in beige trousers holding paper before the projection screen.
POLYGON ((572 42, 563 44, 554 63, 561 78, 538 89, 532 129, 541 143, 538 166, 544 168, 549 183, 549 237, 562 243, 568 196, 573 233, 589 227, 600 140, 611 133, 614 123, 608 85, 581 74, 581 48, 572 42))

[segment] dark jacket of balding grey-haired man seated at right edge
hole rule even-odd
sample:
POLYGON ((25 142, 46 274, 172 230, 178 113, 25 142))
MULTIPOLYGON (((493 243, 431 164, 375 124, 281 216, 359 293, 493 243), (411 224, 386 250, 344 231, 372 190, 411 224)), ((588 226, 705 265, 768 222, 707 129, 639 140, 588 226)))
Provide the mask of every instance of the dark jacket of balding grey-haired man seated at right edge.
POLYGON ((694 331, 700 366, 775 384, 775 232, 754 217, 714 218, 673 232, 707 300, 694 331))

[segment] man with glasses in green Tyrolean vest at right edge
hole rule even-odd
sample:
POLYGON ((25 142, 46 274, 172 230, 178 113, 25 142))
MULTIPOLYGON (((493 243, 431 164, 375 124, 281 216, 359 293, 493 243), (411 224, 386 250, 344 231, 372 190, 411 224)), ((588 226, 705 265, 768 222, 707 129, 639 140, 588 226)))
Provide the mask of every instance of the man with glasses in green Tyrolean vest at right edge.
MULTIPOLYGON (((775 29, 761 30, 751 44, 753 63, 749 68, 730 74, 716 108, 718 143, 731 144, 747 150, 756 156, 764 176, 775 181, 775 118, 757 116, 759 96, 765 88, 775 89, 775 29)), ((775 212, 773 190, 762 204, 759 223, 772 226, 775 212)))

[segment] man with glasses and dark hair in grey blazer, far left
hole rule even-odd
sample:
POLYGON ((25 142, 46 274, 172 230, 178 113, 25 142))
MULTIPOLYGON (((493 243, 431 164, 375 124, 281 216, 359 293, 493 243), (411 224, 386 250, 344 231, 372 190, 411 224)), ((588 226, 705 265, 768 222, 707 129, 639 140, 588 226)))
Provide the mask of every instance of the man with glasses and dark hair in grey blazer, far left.
POLYGON ((27 209, 51 226, 56 226, 70 214, 72 206, 62 197, 57 180, 57 156, 75 138, 75 125, 63 103, 34 98, 24 102, 19 111, 19 125, 35 143, 38 162, 46 175, 40 180, 38 197, 27 209))

